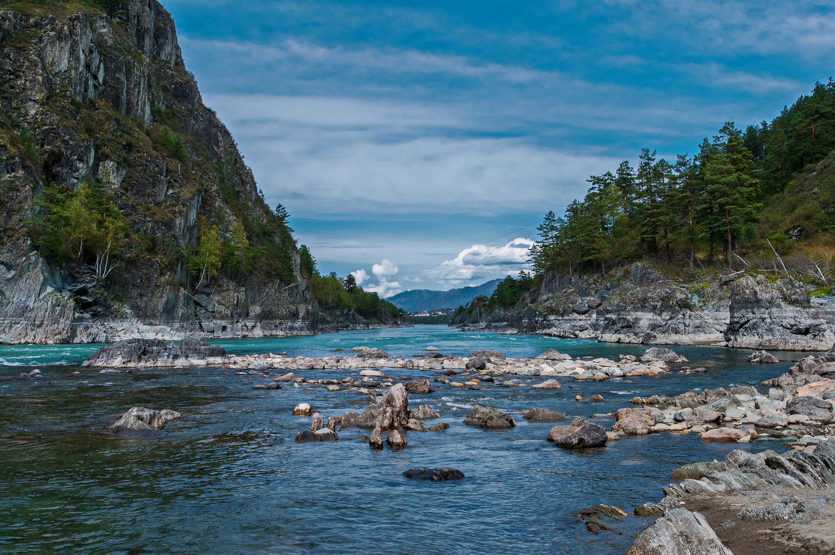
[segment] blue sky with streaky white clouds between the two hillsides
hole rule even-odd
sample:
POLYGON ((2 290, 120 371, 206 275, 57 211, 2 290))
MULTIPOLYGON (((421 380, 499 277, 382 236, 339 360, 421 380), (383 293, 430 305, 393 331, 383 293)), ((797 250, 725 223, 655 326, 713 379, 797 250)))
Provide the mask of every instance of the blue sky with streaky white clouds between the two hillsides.
POLYGON ((205 103, 324 272, 517 272, 545 211, 835 74, 830 2, 163 0, 205 103))

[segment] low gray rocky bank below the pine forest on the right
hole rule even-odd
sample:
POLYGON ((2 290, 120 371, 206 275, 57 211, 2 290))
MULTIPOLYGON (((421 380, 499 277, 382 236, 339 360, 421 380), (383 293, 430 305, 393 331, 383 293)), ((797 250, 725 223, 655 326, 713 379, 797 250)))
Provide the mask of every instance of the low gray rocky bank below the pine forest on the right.
POLYGON ((827 350, 835 310, 802 283, 704 276, 685 283, 646 264, 605 276, 551 274, 512 308, 459 310, 452 326, 637 344, 827 350))

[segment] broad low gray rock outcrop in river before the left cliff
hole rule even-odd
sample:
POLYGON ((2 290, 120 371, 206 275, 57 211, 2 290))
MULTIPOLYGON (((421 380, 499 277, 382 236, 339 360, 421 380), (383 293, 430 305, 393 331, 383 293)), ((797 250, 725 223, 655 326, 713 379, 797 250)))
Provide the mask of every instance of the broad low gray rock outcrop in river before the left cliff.
POLYGON ((138 368, 139 366, 195 366, 221 364, 226 351, 201 339, 123 339, 104 345, 82 366, 97 368, 138 368))

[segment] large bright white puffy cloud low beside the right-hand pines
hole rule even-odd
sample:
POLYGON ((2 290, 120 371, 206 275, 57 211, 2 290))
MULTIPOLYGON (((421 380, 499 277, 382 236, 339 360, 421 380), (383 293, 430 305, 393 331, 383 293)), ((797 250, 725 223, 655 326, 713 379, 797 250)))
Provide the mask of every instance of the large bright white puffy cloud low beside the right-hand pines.
POLYGON ((515 275, 529 269, 529 250, 533 246, 534 242, 524 237, 517 237, 498 247, 473 245, 458 252, 457 257, 428 270, 427 277, 453 286, 515 275))

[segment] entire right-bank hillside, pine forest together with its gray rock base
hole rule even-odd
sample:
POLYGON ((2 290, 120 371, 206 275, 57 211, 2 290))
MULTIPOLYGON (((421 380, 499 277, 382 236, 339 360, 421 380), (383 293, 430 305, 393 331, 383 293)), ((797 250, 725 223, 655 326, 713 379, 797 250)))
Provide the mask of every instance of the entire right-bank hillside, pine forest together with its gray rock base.
POLYGON ((493 297, 460 308, 453 325, 762 346, 766 329, 745 322, 768 319, 783 337, 769 348, 829 349, 833 161, 832 79, 771 122, 726 123, 694 155, 671 161, 644 149, 635 165, 590 176, 562 215, 549 211, 531 249, 533 275, 508 277, 493 297))

